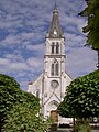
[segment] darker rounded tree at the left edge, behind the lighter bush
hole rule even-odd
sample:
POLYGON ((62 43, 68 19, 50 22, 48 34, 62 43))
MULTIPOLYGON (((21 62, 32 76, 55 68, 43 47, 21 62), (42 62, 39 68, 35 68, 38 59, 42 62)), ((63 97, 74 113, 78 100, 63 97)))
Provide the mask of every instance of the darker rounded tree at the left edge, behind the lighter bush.
POLYGON ((0 129, 3 127, 6 112, 21 99, 21 94, 20 85, 13 77, 0 74, 0 129))

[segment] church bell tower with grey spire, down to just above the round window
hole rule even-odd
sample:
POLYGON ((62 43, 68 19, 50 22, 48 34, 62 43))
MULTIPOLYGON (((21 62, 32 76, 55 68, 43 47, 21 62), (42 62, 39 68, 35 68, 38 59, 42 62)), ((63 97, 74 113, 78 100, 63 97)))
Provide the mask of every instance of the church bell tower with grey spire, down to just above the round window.
POLYGON ((65 73, 65 36, 59 23, 57 7, 53 11, 51 28, 46 34, 45 73, 51 78, 59 78, 65 73))

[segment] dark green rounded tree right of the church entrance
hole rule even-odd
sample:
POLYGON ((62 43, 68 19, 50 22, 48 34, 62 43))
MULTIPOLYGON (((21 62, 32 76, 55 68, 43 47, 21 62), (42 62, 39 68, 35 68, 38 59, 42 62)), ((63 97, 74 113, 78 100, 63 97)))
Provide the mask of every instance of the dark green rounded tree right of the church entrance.
POLYGON ((58 112, 63 117, 99 117, 99 70, 70 82, 58 112))

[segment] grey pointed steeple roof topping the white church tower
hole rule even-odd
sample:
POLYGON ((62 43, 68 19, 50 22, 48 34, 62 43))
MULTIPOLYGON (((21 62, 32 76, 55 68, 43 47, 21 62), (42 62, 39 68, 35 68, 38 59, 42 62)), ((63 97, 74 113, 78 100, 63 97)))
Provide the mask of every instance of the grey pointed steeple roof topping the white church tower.
POLYGON ((52 23, 47 33, 47 37, 64 37, 64 33, 59 23, 59 16, 58 16, 58 11, 57 11, 57 4, 55 1, 55 8, 53 11, 53 19, 52 19, 52 23))

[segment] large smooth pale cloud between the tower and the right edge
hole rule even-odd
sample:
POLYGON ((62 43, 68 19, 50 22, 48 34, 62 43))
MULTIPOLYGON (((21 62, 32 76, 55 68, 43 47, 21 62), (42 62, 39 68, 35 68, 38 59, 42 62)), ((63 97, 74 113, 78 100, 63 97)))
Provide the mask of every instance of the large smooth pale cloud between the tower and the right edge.
POLYGON ((97 52, 89 47, 80 47, 78 50, 72 50, 70 54, 67 54, 67 70, 76 78, 77 76, 86 75, 92 70, 96 70, 97 52))

